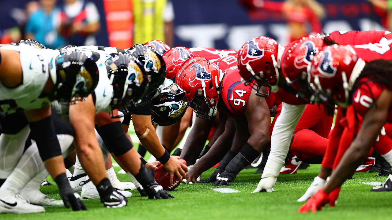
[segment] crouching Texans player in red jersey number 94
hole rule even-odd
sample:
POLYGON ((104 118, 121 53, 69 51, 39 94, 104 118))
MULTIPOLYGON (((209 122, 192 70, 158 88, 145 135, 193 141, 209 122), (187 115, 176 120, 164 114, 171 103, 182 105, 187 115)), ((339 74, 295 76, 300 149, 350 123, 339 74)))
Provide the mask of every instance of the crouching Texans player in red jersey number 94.
MULTIPOLYGON (((236 128, 234 136, 237 138, 233 144, 236 143, 236 147, 240 144, 242 148, 227 164, 225 171, 217 175, 213 184, 217 186, 230 185, 269 142, 269 105, 265 99, 250 93, 251 87, 241 83, 236 61, 235 56, 218 59, 221 69, 207 60, 194 61, 176 78, 176 82, 187 92, 187 99, 197 117, 211 119, 218 109, 233 117, 236 128), (223 103, 218 105, 218 101, 223 103), (256 108, 259 110, 255 111, 256 108)), ((270 105, 273 106, 274 102, 270 105)))

